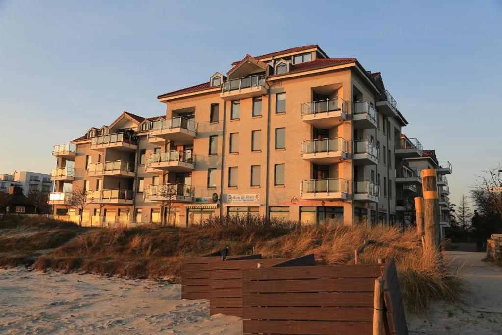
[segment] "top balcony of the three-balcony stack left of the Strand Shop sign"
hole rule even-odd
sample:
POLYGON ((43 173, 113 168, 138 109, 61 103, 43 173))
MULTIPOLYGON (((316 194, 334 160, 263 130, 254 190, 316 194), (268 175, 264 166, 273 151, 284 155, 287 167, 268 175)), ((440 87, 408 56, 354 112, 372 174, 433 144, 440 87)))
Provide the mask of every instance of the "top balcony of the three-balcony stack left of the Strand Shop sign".
POLYGON ((197 124, 193 120, 175 117, 154 122, 151 136, 164 140, 174 141, 179 144, 193 142, 197 134, 197 124))

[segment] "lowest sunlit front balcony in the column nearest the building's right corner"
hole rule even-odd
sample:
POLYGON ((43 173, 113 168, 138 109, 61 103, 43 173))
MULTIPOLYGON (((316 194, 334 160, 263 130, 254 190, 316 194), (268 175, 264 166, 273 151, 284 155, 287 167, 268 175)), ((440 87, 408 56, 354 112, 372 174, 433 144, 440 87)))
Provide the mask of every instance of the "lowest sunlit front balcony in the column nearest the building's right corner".
POLYGON ((305 179, 301 184, 302 199, 345 200, 349 190, 348 180, 341 178, 305 179))

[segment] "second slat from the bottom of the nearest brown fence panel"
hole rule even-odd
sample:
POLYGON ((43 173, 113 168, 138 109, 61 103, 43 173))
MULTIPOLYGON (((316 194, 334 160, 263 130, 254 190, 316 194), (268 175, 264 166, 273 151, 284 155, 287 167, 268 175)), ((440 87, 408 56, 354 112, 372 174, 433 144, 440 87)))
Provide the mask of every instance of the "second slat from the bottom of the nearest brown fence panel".
POLYGON ((367 321, 373 319, 372 307, 244 307, 244 319, 367 321))

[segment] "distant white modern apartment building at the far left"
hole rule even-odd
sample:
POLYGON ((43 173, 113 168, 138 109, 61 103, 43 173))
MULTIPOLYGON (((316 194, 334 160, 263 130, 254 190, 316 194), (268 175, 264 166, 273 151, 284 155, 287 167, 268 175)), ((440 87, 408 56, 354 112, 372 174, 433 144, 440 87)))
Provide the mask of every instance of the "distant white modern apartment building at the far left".
POLYGON ((12 174, 0 174, 0 192, 9 192, 10 186, 20 186, 26 196, 36 190, 48 194, 53 189, 50 175, 40 172, 16 171, 12 174))

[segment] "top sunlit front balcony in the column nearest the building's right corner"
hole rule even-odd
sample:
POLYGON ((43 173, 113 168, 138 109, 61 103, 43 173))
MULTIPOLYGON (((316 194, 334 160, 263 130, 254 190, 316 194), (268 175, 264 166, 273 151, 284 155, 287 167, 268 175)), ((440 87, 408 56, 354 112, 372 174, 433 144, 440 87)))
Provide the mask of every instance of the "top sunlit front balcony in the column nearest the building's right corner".
POLYGON ((318 129, 330 129, 348 120, 347 103, 342 98, 302 103, 302 120, 318 129))

